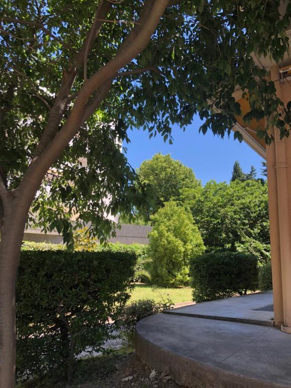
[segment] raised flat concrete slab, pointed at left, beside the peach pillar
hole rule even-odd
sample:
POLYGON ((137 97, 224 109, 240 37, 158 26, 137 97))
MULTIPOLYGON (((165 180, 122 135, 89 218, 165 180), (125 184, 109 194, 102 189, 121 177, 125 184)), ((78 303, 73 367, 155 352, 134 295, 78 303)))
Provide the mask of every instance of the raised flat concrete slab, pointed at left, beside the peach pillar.
POLYGON ((273 326, 273 311, 261 311, 272 305, 273 293, 256 293, 241 297, 203 302, 165 311, 166 314, 178 314, 197 318, 219 319, 234 322, 273 326))

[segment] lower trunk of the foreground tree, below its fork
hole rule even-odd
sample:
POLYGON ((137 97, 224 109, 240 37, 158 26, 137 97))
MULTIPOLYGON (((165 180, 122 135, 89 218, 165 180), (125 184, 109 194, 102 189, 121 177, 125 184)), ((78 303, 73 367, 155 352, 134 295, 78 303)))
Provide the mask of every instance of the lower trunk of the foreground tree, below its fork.
POLYGON ((0 387, 15 386, 15 287, 27 212, 12 199, 4 208, 0 241, 0 387))

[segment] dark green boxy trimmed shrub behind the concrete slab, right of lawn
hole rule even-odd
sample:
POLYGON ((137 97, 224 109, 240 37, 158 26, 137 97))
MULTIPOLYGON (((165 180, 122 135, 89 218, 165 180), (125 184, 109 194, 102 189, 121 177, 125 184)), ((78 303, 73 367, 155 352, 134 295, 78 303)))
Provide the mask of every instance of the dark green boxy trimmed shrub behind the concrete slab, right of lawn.
POLYGON ((207 253, 191 260, 190 276, 196 302, 243 295, 258 287, 258 262, 245 253, 207 253))

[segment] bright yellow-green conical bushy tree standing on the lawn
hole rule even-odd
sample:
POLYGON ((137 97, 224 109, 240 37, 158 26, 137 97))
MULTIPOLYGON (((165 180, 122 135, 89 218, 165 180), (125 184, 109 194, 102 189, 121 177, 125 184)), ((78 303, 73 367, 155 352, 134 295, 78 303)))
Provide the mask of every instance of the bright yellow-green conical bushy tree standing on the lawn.
POLYGON ((203 239, 189 212, 173 201, 164 205, 152 216, 152 281, 161 286, 187 284, 189 259, 204 252, 203 239))

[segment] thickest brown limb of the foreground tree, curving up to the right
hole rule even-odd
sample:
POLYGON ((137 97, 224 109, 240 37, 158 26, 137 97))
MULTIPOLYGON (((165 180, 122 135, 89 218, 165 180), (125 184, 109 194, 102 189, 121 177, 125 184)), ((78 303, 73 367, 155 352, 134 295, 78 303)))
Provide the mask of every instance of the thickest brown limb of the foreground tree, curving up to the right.
MULTIPOLYGON (((131 38, 125 39, 127 43, 124 45, 124 49, 84 82, 66 123, 41 155, 31 162, 24 174, 17 188, 18 195, 23 198, 23 201, 33 200, 46 171, 59 158, 71 139, 79 131, 90 96, 105 82, 110 81, 120 69, 128 65, 147 46, 167 5, 168 0, 156 0, 154 4, 153 0, 146 0, 143 10, 146 10, 148 17, 136 37, 133 40, 131 38)), ((135 27, 140 26, 136 25, 135 27)))

